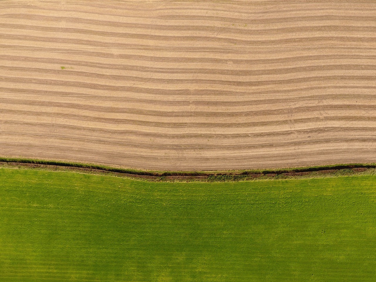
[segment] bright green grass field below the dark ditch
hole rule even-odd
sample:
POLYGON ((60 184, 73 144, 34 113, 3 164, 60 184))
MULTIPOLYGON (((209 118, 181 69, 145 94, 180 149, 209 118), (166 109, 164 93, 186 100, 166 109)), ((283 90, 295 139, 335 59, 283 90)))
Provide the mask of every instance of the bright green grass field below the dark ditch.
POLYGON ((0 281, 376 281, 376 176, 150 183, 0 169, 0 281))

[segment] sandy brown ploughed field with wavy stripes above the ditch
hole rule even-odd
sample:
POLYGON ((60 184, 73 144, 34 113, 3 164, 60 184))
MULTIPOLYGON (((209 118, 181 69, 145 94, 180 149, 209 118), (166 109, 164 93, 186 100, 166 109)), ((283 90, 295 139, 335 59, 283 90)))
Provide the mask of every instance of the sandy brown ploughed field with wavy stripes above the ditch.
POLYGON ((374 162, 376 2, 3 0, 0 155, 374 162))

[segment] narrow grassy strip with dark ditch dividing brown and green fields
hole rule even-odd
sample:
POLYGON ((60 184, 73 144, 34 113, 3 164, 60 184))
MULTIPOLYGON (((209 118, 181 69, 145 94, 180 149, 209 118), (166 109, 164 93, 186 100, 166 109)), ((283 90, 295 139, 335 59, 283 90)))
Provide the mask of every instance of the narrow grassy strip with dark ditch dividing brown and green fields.
POLYGON ((335 164, 315 167, 270 170, 228 171, 142 171, 98 164, 0 157, 0 166, 39 170, 76 171, 87 174, 111 174, 152 182, 237 182, 268 179, 307 179, 376 174, 376 164, 335 164), (8 165, 7 165, 8 164, 8 165))

